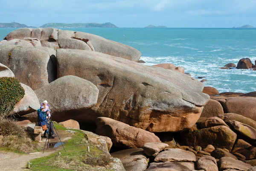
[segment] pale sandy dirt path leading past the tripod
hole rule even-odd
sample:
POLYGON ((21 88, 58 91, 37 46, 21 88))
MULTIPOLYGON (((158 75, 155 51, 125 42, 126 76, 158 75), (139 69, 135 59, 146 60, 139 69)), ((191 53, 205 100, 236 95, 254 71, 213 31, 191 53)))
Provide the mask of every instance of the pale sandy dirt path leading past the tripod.
MULTIPOLYGON (((71 138, 72 134, 60 131, 59 136, 61 137, 61 142, 64 142, 71 138)), ((62 145, 60 143, 60 140, 58 137, 55 137, 55 139, 49 140, 49 147, 44 150, 44 144, 45 144, 45 138, 42 138, 42 142, 38 143, 38 151, 40 152, 34 152, 26 155, 20 155, 15 154, 11 152, 4 152, 0 151, 0 170, 1 171, 28 171, 29 169, 26 168, 27 163, 32 160, 39 157, 45 157, 49 156, 50 154, 62 150, 62 145), (59 146, 57 148, 54 148, 54 145, 58 143, 59 146), (44 150, 44 154, 43 154, 44 150)), ((47 140, 48 142, 48 140, 47 140)))

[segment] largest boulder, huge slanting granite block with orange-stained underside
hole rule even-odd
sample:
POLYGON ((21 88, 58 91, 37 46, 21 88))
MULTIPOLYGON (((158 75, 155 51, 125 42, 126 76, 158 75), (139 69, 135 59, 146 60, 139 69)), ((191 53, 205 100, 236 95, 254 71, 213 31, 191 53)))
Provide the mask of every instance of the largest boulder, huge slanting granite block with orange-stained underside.
POLYGON ((58 77, 76 75, 99 88, 97 104, 77 120, 110 117, 151 132, 192 127, 209 100, 198 80, 94 51, 58 49, 58 77))

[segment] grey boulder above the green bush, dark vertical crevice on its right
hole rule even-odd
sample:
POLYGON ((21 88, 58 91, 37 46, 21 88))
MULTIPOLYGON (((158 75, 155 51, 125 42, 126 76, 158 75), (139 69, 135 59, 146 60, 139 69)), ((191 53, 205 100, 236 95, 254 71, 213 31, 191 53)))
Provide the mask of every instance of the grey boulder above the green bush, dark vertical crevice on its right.
POLYGON ((8 66, 20 83, 36 90, 56 79, 54 54, 56 51, 46 47, 0 46, 0 63, 8 66))

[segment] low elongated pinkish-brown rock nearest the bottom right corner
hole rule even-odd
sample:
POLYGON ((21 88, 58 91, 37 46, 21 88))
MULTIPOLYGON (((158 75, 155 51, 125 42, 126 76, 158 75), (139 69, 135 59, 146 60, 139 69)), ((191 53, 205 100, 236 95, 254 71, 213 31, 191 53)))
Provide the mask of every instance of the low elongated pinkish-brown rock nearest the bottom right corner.
POLYGON ((251 168, 251 165, 248 165, 242 161, 233 159, 232 157, 222 157, 218 162, 220 171, 224 171, 226 169, 236 169, 239 171, 247 171, 251 168))

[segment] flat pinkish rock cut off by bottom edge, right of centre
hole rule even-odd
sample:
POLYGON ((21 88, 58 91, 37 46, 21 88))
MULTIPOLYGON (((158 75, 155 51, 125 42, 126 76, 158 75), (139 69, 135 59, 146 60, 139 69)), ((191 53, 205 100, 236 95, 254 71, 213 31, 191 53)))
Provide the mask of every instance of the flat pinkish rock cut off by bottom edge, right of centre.
POLYGON ((152 162, 146 171, 192 171, 193 162, 152 162))

